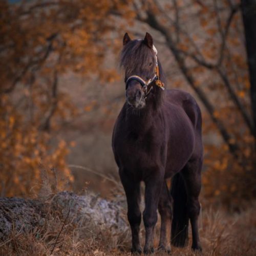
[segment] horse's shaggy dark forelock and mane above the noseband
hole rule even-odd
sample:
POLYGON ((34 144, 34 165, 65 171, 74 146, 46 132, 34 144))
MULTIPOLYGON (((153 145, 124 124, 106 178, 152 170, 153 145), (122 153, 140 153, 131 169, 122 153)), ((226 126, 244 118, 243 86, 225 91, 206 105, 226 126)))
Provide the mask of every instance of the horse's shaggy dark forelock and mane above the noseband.
MULTIPOLYGON (((131 40, 129 41, 121 51, 120 55, 120 67, 125 69, 128 73, 133 72, 133 70, 143 69, 145 63, 148 63, 150 60, 154 61, 153 58, 154 51, 144 44, 143 40, 131 40)), ((159 76, 162 82, 165 83, 165 76, 163 74, 162 66, 158 58, 159 66, 159 76)), ((136 75, 136 74, 132 74, 136 75)))

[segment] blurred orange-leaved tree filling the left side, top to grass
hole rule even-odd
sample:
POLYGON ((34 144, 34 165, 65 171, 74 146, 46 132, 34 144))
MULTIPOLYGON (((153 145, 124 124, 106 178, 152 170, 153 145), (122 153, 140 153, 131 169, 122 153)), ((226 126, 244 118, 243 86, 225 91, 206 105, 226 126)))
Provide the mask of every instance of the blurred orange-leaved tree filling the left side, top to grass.
POLYGON ((1 1, 2 196, 30 193, 40 183, 40 165, 73 179, 68 145, 60 139, 53 146, 59 127, 78 113, 69 95, 60 92, 59 77, 67 71, 87 77, 112 72, 103 73, 100 65, 113 28, 105 16, 120 7, 104 0, 1 1))

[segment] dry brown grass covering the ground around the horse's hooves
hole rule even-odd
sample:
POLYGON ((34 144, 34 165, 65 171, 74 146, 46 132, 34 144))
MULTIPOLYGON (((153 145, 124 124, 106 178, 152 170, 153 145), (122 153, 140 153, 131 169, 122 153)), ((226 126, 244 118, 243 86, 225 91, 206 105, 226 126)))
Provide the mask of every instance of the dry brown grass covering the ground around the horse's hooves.
MULTIPOLYGON (((159 222, 155 248, 159 239, 159 222)), ((141 229, 143 245, 143 225, 141 229)), ((189 245, 186 248, 172 246, 172 255, 256 255, 256 203, 232 214, 223 209, 204 209, 200 217, 202 254, 190 250, 190 233, 191 230, 189 245)), ((47 217, 46 229, 35 228, 29 234, 13 231, 8 240, 0 241, 0 255, 130 255, 130 245, 130 229, 111 233, 93 223, 77 227, 52 213, 47 217)))

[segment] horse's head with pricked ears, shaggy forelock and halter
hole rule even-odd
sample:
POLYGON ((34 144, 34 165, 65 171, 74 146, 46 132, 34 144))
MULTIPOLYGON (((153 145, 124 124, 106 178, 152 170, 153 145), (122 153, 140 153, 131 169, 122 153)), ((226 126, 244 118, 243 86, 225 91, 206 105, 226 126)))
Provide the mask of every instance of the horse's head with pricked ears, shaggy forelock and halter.
POLYGON ((126 101, 136 109, 145 106, 145 99, 158 79, 156 74, 157 50, 153 38, 146 33, 144 39, 131 40, 125 33, 121 66, 124 68, 126 85, 126 101))

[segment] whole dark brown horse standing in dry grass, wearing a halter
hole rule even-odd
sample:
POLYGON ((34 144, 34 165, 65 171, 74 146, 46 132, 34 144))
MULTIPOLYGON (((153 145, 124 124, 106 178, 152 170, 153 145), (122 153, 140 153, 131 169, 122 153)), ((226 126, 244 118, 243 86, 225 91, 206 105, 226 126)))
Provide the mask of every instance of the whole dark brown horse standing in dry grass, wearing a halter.
POLYGON ((192 248, 201 250, 198 201, 201 189, 202 118, 195 99, 180 90, 162 90, 163 74, 153 38, 123 38, 121 66, 126 102, 117 118, 112 147, 128 206, 132 252, 141 253, 140 182, 145 183, 144 253, 153 249, 157 209, 161 216, 159 248, 169 251, 166 232, 172 220, 172 244, 185 246, 190 219, 192 248), (166 179, 172 178, 169 192, 166 179), (172 210, 173 208, 173 210, 172 210))

